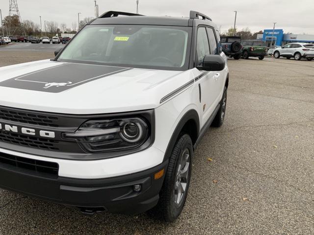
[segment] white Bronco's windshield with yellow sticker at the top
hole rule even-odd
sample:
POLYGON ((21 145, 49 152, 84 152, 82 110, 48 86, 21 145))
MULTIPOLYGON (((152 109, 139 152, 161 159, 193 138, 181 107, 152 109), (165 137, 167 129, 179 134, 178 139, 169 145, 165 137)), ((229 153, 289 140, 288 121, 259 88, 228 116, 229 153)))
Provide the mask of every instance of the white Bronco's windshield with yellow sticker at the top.
POLYGON ((182 70, 187 65, 187 27, 88 25, 58 61, 182 70))

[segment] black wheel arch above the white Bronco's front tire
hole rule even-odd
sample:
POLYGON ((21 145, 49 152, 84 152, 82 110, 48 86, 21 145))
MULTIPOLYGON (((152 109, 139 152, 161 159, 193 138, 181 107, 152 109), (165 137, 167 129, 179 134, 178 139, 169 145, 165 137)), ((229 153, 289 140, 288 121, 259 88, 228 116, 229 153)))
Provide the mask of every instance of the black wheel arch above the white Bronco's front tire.
POLYGON ((182 132, 190 136, 194 145, 200 134, 200 118, 195 109, 190 109, 180 119, 168 143, 163 162, 169 159, 169 157, 171 156, 175 143, 180 138, 180 134, 182 132))

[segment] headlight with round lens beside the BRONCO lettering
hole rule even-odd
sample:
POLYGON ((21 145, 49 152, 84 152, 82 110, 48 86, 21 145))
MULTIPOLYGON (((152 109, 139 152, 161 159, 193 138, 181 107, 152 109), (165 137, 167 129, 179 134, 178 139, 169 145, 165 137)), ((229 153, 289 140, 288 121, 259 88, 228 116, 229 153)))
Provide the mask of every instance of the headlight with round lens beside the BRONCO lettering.
POLYGON ((142 118, 90 120, 64 139, 78 141, 88 152, 108 152, 139 147, 149 137, 149 125, 142 118))

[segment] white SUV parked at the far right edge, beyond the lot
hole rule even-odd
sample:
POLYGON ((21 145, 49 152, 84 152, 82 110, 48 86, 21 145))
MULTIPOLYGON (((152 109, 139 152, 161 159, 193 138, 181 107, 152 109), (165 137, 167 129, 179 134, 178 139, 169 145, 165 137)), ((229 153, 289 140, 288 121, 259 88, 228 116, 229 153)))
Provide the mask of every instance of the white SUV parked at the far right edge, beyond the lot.
POLYGON ((306 58, 311 61, 314 58, 314 45, 307 43, 289 43, 284 47, 278 47, 274 50, 274 57, 285 57, 287 59, 294 58, 295 60, 301 60, 306 58))

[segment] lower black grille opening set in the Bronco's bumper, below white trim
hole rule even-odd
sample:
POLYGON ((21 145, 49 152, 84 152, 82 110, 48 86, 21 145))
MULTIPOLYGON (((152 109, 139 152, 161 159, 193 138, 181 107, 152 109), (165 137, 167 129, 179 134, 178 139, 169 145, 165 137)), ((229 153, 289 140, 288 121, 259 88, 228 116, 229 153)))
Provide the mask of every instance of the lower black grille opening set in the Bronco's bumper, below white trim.
POLYGON ((0 153, 0 163, 31 170, 34 173, 47 173, 54 177, 58 176, 59 171, 59 165, 57 163, 23 158, 6 153, 0 153))

